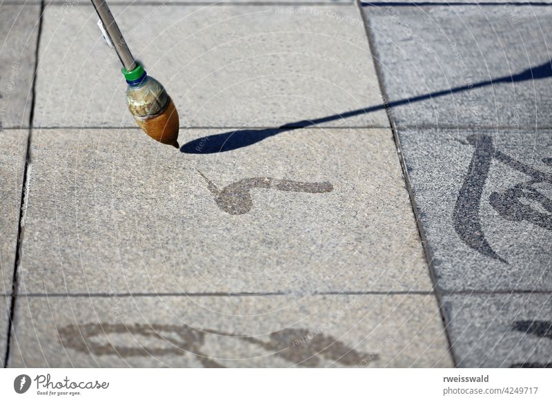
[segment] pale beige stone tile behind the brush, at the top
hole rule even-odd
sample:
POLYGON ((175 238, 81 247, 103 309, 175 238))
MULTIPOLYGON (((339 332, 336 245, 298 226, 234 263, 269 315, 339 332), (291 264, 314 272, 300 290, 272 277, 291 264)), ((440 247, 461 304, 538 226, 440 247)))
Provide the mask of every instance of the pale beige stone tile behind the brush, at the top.
MULTIPOLYGON (((113 6, 181 126, 388 126, 356 6, 113 6), (161 27, 161 29, 159 29, 161 27)), ((92 8, 46 8, 34 124, 133 126, 119 60, 92 8)))

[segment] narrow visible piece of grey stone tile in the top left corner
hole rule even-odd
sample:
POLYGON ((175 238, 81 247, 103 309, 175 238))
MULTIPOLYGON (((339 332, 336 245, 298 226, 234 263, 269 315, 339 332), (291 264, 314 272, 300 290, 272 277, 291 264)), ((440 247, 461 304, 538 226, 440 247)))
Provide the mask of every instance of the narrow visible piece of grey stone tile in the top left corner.
POLYGON ((0 129, 28 127, 39 6, 0 5, 0 129))

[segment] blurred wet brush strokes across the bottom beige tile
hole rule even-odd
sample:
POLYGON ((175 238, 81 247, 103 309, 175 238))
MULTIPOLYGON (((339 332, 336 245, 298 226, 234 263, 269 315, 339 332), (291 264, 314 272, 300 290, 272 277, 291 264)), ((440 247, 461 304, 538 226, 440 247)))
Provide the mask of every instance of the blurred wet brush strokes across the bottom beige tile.
POLYGON ((308 329, 301 328, 287 328, 273 332, 268 335, 268 341, 213 329, 196 329, 185 324, 89 323, 67 325, 61 327, 58 332, 59 341, 63 347, 84 354, 115 355, 124 358, 178 356, 190 353, 195 355, 204 367, 224 367, 201 351, 208 336, 230 336, 241 342, 261 347, 302 367, 319 367, 322 364, 322 358, 346 366, 368 365, 378 357, 375 352, 362 354, 332 336, 314 334, 308 329), (129 335, 135 345, 132 343, 114 345, 109 341, 109 336, 117 334, 129 335), (147 339, 143 344, 136 344, 137 336, 147 339), (103 337, 103 342, 100 337, 103 337))

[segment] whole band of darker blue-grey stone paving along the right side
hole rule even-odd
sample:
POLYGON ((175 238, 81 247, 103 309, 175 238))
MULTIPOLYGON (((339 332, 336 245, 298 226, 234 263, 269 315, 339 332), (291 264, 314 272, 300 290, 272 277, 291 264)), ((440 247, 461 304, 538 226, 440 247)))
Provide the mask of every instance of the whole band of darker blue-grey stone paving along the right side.
POLYGON ((457 365, 551 365, 552 8, 363 10, 457 365))

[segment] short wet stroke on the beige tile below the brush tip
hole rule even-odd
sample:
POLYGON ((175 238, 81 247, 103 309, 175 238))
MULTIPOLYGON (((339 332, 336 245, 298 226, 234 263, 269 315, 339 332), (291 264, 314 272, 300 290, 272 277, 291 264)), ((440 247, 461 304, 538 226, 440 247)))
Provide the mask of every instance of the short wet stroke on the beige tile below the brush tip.
POLYGON ((275 178, 247 178, 228 184, 224 189, 219 189, 206 175, 197 171, 207 182, 209 191, 215 195, 218 207, 232 215, 248 213, 253 208, 252 189, 272 189, 278 191, 293 191, 302 193, 329 193, 333 191, 330 182, 295 182, 293 180, 280 180, 275 178))

